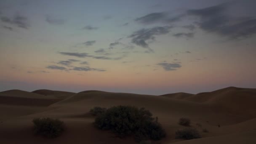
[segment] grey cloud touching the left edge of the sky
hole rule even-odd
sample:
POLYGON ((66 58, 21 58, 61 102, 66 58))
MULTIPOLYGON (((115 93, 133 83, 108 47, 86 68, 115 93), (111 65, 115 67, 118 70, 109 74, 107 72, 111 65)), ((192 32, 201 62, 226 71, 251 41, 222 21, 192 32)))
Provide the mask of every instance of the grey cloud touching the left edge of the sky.
POLYGON ((9 18, 7 16, 2 16, 1 21, 6 24, 11 24, 16 27, 21 27, 24 29, 28 29, 30 27, 28 18, 21 15, 16 15, 13 18, 9 18))

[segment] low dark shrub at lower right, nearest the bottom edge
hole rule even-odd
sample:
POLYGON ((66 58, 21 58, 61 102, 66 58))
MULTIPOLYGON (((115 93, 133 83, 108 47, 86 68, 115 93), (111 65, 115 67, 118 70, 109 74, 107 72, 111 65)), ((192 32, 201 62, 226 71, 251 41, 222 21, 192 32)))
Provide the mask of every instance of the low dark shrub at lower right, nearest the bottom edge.
POLYGON ((198 139, 201 138, 199 131, 195 128, 184 128, 175 132, 176 139, 198 139))

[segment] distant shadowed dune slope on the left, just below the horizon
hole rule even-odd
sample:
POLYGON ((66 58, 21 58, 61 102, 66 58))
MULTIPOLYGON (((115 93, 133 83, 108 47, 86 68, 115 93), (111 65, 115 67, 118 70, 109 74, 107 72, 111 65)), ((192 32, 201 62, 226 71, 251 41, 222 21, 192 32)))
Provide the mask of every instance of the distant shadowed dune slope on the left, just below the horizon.
POLYGON ((52 91, 52 90, 44 90, 44 89, 32 91, 32 93, 37 93, 44 96, 54 96, 58 99, 65 99, 75 94, 67 91, 52 91))

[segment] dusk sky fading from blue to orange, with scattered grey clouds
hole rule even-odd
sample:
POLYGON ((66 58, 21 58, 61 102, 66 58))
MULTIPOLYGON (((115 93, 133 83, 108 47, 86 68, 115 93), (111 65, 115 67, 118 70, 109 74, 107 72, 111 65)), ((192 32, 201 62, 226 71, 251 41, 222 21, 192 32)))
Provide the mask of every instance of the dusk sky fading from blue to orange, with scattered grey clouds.
POLYGON ((0 91, 256 88, 255 0, 0 0, 0 91))

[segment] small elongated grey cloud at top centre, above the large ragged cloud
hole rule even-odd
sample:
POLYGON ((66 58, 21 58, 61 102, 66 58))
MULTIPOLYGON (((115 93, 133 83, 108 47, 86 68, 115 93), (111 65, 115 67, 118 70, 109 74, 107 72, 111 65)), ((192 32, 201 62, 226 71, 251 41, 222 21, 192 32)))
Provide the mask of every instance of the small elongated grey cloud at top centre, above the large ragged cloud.
POLYGON ((167 17, 166 13, 149 13, 146 16, 139 17, 135 21, 140 22, 141 24, 153 24, 159 21, 162 21, 167 17))

